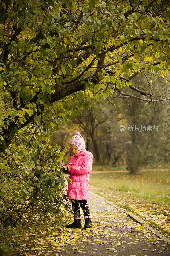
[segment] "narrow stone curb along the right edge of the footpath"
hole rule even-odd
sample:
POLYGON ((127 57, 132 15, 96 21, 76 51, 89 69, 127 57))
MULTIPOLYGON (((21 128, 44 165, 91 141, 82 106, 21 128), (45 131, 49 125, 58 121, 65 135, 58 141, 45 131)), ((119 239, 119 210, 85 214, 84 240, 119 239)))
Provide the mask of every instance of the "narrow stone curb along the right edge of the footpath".
MULTIPOLYGON (((118 208, 118 209, 122 209, 121 207, 113 204, 112 202, 110 201, 107 201, 104 197, 102 196, 99 196, 95 193, 93 193, 92 191, 89 190, 89 193, 92 194, 93 196, 97 196, 99 197, 100 199, 104 200, 107 204, 110 204, 110 205, 113 205, 115 208, 118 208)), ((161 238, 161 240, 164 240, 167 244, 170 245, 170 240, 162 235, 161 233, 159 233, 156 229, 152 228, 151 226, 149 226, 148 224, 146 224, 143 220, 140 220, 137 216, 135 216, 134 214, 132 214, 131 212, 128 212, 128 211, 123 211, 124 213, 126 213, 127 215, 129 215, 132 219, 136 220, 138 223, 140 223, 141 225, 143 225, 144 227, 146 227, 147 229, 151 230, 152 232, 155 233, 156 236, 158 236, 159 238, 161 238)))

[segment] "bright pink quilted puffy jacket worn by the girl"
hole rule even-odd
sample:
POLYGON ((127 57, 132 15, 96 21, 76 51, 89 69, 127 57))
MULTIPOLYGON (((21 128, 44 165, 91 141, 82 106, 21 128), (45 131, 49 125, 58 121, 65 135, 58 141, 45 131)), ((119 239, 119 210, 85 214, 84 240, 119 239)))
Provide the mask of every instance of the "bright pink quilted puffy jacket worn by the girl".
POLYGON ((67 196, 70 199, 89 200, 89 181, 92 171, 93 155, 85 150, 78 156, 71 156, 70 176, 73 184, 68 184, 67 196), (73 167, 75 166, 75 167, 73 167))

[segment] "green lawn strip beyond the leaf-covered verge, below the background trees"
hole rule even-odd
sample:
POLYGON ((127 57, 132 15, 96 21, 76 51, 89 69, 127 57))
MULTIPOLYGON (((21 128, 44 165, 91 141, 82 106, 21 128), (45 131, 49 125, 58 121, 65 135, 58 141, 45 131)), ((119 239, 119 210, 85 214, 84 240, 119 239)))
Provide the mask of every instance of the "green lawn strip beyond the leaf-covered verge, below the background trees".
POLYGON ((94 166, 91 174, 90 185, 96 188, 100 186, 100 192, 103 188, 107 188, 112 192, 128 192, 138 199, 151 203, 170 205, 170 169, 144 170, 137 175, 129 175, 128 171, 123 170, 111 172, 107 166, 104 169, 106 171, 101 171, 98 166, 97 168, 94 166))

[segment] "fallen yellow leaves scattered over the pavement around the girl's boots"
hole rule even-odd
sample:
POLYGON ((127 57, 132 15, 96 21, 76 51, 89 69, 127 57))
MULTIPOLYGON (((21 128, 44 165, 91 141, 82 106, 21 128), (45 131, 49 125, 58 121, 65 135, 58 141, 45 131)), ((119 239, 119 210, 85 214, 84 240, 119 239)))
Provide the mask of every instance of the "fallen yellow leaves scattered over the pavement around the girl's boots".
MULTIPOLYGON (((22 246, 20 252, 26 256, 37 256, 37 255, 50 255, 50 256, 60 256, 62 252, 67 253, 83 253, 85 254, 84 245, 82 242, 93 244, 96 246, 107 245, 108 252, 118 252, 119 247, 125 248, 125 245, 130 246, 131 244, 137 244, 138 242, 147 239, 146 248, 143 250, 148 250, 147 248, 151 246, 150 241, 155 243, 155 246, 159 245, 160 239, 153 235, 151 231, 136 223, 134 220, 128 220, 125 223, 120 221, 120 218, 129 218, 123 212, 123 209, 115 208, 114 206, 107 205, 107 209, 100 209, 100 207, 93 207, 91 209, 91 215, 93 220, 93 228, 90 229, 57 229, 52 231, 50 235, 44 232, 41 237, 33 236, 30 241, 29 237, 25 233, 25 240, 23 241, 26 246, 22 246), (105 211, 108 210, 108 211, 105 211), (119 221, 117 221, 119 219, 119 221), (110 221, 112 224, 110 225, 110 221), (117 237, 112 239, 111 237, 117 237), (139 239, 140 236, 140 239, 139 239), (126 239, 125 239, 126 238, 126 239), (133 239, 134 240, 133 240, 133 239), (106 239, 108 239, 106 241, 106 239), (81 245, 75 246, 75 244, 80 243, 81 245), (67 245, 73 245, 71 250, 65 249, 67 245)), ((55 227, 49 228, 54 230, 55 227)), ((49 230, 48 230, 49 231, 49 230)), ((165 247, 166 248, 166 245, 165 247)), ((167 247, 168 248, 168 247, 167 247)), ((160 249, 160 248, 159 248, 160 249)), ((140 250, 138 249, 140 254, 140 250)), ((93 249, 93 253, 97 253, 97 249, 93 249)), ((63 255, 63 254, 62 254, 63 255)), ((116 254, 115 254, 116 255, 116 254)), ((113 255, 112 255, 113 256, 113 255)))

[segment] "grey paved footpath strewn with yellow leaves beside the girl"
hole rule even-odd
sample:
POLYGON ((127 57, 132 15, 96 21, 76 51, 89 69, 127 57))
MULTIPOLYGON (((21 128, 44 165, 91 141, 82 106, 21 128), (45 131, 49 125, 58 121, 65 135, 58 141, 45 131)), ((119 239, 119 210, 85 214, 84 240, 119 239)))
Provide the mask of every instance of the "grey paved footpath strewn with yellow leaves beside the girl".
MULTIPOLYGON (((169 245, 152 231, 131 219, 119 207, 109 205, 105 200, 90 194, 88 202, 92 229, 68 229, 76 239, 60 247, 51 255, 72 256, 155 256, 170 255, 169 245), (77 231, 78 230, 78 231, 77 231), (78 235, 79 234, 79 235, 78 235)), ((82 226, 84 225, 84 220, 82 226)))

